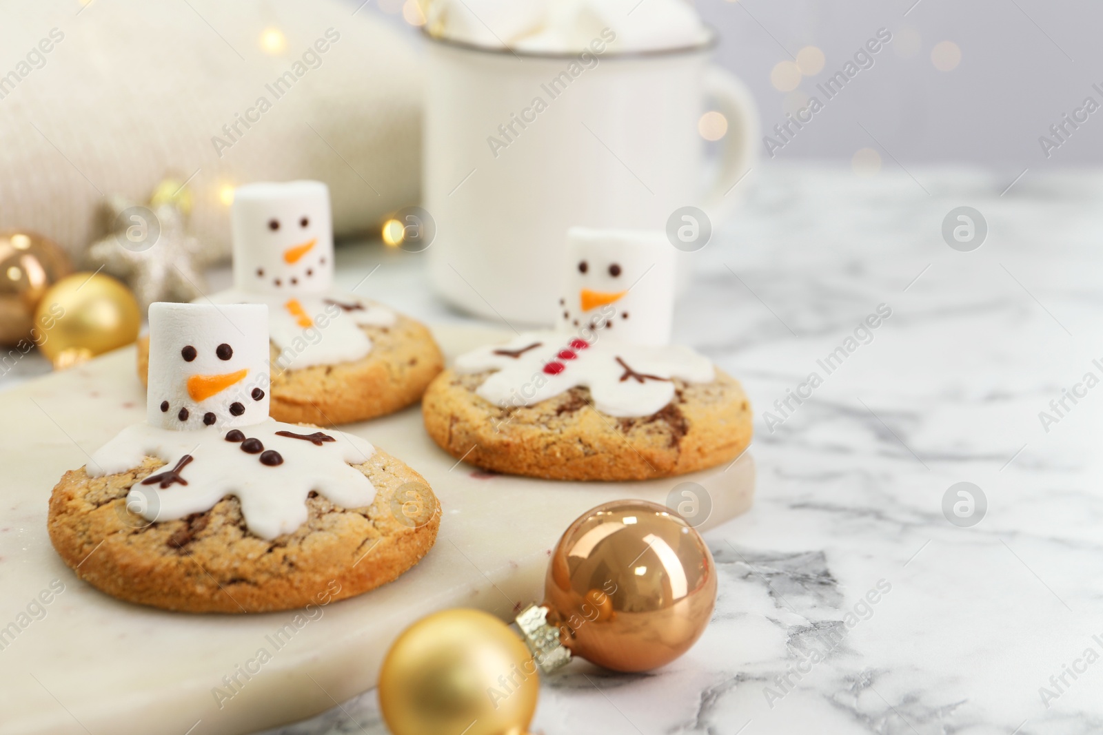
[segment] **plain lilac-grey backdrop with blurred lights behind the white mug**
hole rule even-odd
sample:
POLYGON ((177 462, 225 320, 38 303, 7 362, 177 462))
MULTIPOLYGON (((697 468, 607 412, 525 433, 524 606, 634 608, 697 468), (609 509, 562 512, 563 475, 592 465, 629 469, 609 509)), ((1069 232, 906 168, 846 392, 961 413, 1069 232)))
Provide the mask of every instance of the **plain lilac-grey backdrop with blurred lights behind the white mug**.
MULTIPOLYGON (((362 0, 350 0, 358 4, 362 0)), ((521 0, 518 0, 521 1, 521 0)), ((646 2, 647 0, 643 0, 646 2)), ((805 45, 826 63, 801 89, 839 69, 879 28, 893 42, 877 54, 842 95, 814 118, 774 161, 849 161, 874 148, 884 165, 978 164, 1018 175, 1103 161, 1103 109, 1092 115, 1049 159, 1038 142, 1049 126, 1085 96, 1103 105, 1103 3, 1088 0, 698 0, 706 22, 720 31, 717 60, 746 82, 761 108, 763 130, 784 120, 785 93, 770 84, 774 64, 805 45), (907 14, 906 14, 907 13, 907 14), (902 34, 902 35, 901 35, 902 34), (901 39, 918 34, 918 48, 901 55, 901 39), (961 64, 941 72, 931 48, 953 41, 961 64), (870 140, 858 123, 871 133, 870 140)), ((386 7, 386 6, 384 6, 386 7)), ((400 14, 371 9, 406 26, 400 14)), ((763 149, 764 150, 764 149, 763 149)), ((1009 179, 1010 180, 1010 179, 1009 179)))

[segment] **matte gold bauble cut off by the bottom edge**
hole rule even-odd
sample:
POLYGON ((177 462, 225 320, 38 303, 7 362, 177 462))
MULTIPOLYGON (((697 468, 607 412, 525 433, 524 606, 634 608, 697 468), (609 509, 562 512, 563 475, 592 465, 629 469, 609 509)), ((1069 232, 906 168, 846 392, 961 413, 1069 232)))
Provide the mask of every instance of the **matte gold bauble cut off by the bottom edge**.
POLYGON ((421 618, 379 672, 379 707, 394 735, 524 735, 539 677, 508 626, 474 609, 421 618))

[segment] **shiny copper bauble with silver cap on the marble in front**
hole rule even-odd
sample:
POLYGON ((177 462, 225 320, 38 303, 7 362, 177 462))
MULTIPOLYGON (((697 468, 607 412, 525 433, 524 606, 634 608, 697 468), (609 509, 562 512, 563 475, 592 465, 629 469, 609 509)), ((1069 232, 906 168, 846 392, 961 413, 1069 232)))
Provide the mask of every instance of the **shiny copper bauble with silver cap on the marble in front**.
POLYGON ((571 656, 615 671, 670 663, 700 637, 716 605, 716 568, 700 534, 668 508, 614 500, 559 539, 545 602, 517 616, 545 672, 571 656))

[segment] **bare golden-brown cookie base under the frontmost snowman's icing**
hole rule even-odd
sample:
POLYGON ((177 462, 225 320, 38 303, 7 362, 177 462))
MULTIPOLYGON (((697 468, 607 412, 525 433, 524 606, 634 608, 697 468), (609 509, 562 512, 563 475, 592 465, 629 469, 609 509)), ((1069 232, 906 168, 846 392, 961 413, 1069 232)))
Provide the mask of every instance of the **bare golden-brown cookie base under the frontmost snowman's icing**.
POLYGON ((160 460, 103 477, 82 467, 54 487, 50 539, 77 576, 141 605, 263 613, 325 604, 398 577, 429 551, 440 525, 428 483, 400 461, 376 450, 352 466, 375 487, 368 507, 341 508, 312 493, 307 522, 270 541, 249 532, 233 496, 180 520, 135 512, 131 487, 171 473, 160 460))

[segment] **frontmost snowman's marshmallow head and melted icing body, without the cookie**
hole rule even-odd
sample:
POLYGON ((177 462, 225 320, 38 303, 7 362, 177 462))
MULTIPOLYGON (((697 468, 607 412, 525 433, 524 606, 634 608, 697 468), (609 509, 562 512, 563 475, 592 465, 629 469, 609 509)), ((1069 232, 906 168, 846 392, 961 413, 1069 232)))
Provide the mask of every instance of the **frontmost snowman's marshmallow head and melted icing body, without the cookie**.
POLYGON ((268 418, 267 305, 159 302, 149 329, 146 422, 119 432, 86 467, 103 477, 147 457, 165 463, 133 483, 127 511, 175 520, 233 495, 249 531, 271 540, 307 521, 312 491, 343 508, 374 501, 372 482, 351 466, 375 453, 370 443, 268 418))

